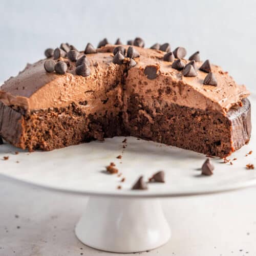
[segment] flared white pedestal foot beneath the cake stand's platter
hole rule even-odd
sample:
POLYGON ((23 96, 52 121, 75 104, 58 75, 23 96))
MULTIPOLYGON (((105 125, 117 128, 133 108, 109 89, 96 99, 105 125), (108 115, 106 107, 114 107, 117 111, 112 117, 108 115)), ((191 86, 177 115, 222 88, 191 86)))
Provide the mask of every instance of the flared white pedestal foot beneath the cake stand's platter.
POLYGON ((118 197, 90 197, 75 233, 90 247, 122 253, 155 249, 171 234, 159 199, 118 197))

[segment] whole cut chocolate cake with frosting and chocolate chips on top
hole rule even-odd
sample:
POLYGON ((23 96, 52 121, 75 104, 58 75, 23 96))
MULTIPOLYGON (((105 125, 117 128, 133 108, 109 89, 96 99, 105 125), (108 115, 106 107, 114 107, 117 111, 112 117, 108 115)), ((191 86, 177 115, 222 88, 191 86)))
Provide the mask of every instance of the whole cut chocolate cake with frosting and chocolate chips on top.
MULTIPOLYGON (((120 40, 117 41, 120 43, 120 40)), ((29 151, 135 136, 225 157, 251 133, 249 92, 199 52, 61 44, 0 90, 0 135, 29 151)))

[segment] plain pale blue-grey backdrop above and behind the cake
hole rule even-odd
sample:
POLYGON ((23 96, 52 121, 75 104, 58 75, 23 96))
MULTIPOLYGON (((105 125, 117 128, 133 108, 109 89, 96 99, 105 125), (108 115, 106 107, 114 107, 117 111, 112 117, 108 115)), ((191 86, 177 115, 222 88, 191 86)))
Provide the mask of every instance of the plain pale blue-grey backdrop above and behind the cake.
POLYGON ((0 81, 61 42, 83 49, 103 37, 141 36, 150 47, 170 42, 197 50, 254 88, 255 1, 6 1, 0 0, 0 81))

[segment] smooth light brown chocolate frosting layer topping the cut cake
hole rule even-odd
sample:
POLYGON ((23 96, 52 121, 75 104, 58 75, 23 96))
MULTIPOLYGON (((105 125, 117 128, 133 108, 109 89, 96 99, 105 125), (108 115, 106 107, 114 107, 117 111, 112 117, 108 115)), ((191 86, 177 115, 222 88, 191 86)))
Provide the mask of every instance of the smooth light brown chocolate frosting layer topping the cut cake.
MULTIPOLYGON (((194 57, 190 57, 190 60, 197 61, 191 63, 183 56, 180 57, 177 49, 176 53, 174 51, 166 55, 166 52, 158 49, 123 45, 126 55, 129 47, 139 55, 134 54, 129 58, 125 54, 120 55, 120 52, 114 55, 116 47, 117 45, 105 45, 95 49, 95 53, 86 54, 87 62, 79 66, 80 69, 76 67, 75 61, 70 60, 70 56, 55 58, 55 63, 67 63, 64 74, 58 74, 57 71, 46 72, 45 61, 54 57, 28 64, 17 76, 5 81, 0 90, 0 100, 6 105, 20 106, 26 110, 66 106, 71 102, 84 100, 89 91, 94 92, 94 97, 103 95, 106 84, 121 81, 122 77, 127 92, 138 93, 144 98, 156 97, 190 108, 223 113, 233 105, 241 104, 241 100, 249 95, 245 86, 239 86, 219 66, 200 61, 197 52, 194 57), (179 68, 180 62, 182 68, 179 68), (184 68, 189 62, 191 65, 184 68), (90 74, 87 73, 88 70, 90 74)), ((83 52, 77 55, 79 59, 83 52)))

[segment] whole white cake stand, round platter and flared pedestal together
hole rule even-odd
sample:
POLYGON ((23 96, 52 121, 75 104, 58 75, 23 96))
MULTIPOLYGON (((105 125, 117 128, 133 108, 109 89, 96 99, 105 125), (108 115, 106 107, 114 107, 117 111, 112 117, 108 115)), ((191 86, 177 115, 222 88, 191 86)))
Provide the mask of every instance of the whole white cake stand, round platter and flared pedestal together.
MULTIPOLYGON (((255 99, 250 97, 252 113, 256 111, 255 99)), ((124 137, 114 137, 33 153, 5 143, 0 146, 0 174, 89 196, 75 228, 76 236, 88 246, 112 252, 150 250, 169 240, 171 232, 159 201, 162 197, 220 193, 256 185, 255 171, 246 169, 256 159, 253 131, 250 143, 228 157, 232 164, 212 158, 215 172, 207 177, 200 171, 204 155, 134 137, 126 139, 126 143, 122 142, 124 137), (250 151, 252 154, 248 154, 250 151), (116 158, 119 155, 121 159, 116 158), (4 156, 9 159, 2 160, 4 156), (121 176, 105 173, 110 162, 116 164, 121 176), (148 183, 147 190, 131 190, 140 175, 147 180, 158 170, 164 170, 165 183, 148 183)))

